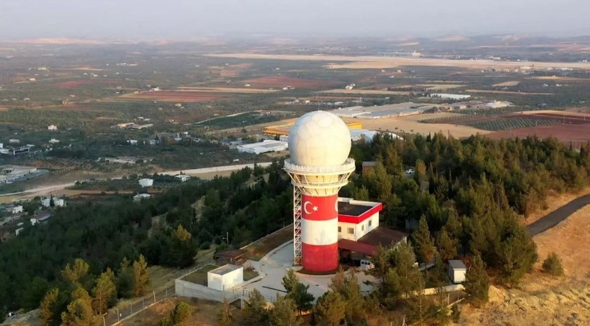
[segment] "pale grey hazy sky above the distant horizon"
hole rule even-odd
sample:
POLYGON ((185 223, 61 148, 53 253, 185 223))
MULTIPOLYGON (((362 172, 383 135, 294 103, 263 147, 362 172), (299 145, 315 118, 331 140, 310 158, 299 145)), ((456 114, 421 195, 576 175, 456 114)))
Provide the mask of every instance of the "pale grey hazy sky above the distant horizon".
POLYGON ((590 35, 589 0, 0 0, 0 38, 590 35))

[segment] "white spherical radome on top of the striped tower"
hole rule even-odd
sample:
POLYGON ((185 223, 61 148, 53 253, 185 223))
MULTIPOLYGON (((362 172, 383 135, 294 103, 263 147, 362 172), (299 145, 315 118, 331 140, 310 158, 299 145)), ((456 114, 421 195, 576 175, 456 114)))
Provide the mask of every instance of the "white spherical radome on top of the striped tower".
POLYGON ((335 114, 314 111, 299 118, 289 131, 289 154, 294 164, 339 166, 351 153, 351 132, 335 114))

